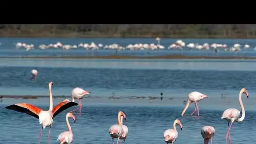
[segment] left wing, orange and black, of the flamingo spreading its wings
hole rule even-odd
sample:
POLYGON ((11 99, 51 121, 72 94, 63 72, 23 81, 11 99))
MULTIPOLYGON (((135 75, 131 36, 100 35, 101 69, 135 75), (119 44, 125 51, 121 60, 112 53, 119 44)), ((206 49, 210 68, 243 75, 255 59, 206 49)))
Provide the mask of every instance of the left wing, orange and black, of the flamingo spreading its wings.
POLYGON ((5 107, 5 109, 11 109, 16 112, 22 112, 33 117, 36 117, 37 119, 39 119, 39 113, 42 112, 42 109, 27 103, 13 104, 8 107, 5 107))

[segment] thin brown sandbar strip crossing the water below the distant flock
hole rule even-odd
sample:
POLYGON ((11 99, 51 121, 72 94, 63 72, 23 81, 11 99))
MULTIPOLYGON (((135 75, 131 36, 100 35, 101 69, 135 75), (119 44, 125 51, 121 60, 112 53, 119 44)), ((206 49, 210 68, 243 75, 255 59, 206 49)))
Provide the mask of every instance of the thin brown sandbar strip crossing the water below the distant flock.
POLYGON ((247 56, 2 56, 0 59, 256 59, 247 56))

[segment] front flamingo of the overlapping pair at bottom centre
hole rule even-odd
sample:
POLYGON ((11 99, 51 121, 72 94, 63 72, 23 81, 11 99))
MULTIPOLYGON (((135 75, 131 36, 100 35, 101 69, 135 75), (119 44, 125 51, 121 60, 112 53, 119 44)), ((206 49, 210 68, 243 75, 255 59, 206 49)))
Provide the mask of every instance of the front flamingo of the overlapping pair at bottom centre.
MULTIPOLYGON (((124 131, 123 131, 123 126, 122 126, 123 125, 123 119, 126 120, 125 114, 122 111, 118 112, 117 119, 118 119, 118 124, 112 125, 109 128, 109 134, 112 138, 112 144, 114 144, 114 139, 115 138, 117 138, 117 144, 120 144, 120 137, 127 136, 127 135, 123 135, 124 131)), ((127 133, 128 133, 128 128, 127 128, 127 133)), ((125 141, 125 139, 124 139, 124 141, 125 141)))

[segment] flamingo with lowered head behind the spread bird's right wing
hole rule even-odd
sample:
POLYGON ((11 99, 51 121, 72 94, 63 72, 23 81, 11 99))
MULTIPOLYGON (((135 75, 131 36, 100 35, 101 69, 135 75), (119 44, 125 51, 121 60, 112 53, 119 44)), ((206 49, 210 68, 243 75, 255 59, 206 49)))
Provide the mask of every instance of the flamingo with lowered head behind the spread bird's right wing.
MULTIPOLYGON (((86 94, 91 94, 85 90, 83 90, 82 88, 74 88, 72 91, 71 91, 71 98, 72 98, 72 101, 75 102, 75 99, 78 99, 78 103, 79 103, 79 107, 77 109, 79 109, 79 115, 81 114, 81 108, 82 108, 82 102, 81 102, 81 99, 83 98, 84 95, 86 94)), ((74 112, 75 110, 77 109, 74 109, 72 110, 71 112, 74 112)))

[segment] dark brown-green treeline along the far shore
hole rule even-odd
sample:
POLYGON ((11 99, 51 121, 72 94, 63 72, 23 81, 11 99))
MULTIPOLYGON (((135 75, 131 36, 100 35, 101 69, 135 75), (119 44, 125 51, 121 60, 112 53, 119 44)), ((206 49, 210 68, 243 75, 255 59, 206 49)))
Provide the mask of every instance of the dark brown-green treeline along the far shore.
POLYGON ((256 38, 256 24, 0 24, 0 36, 256 38))

